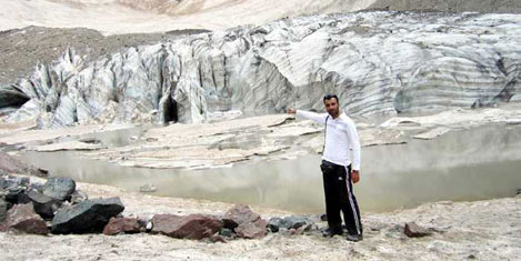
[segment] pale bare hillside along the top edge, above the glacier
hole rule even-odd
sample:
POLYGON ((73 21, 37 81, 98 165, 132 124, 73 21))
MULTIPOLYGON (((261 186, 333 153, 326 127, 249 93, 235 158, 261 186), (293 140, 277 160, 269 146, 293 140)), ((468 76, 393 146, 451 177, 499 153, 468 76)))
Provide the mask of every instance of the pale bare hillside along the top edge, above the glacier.
POLYGON ((364 9, 521 12, 518 0, 0 0, 0 30, 89 28, 104 34, 226 29, 364 9))

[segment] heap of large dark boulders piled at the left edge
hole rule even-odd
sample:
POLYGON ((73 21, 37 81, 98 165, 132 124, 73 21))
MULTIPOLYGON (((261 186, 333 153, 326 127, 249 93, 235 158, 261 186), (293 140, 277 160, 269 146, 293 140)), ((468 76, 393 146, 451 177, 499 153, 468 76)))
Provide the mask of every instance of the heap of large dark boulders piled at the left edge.
POLYGON ((119 198, 89 200, 70 178, 49 178, 41 184, 0 175, 1 231, 47 234, 48 221, 52 233, 101 232, 123 209, 119 198))

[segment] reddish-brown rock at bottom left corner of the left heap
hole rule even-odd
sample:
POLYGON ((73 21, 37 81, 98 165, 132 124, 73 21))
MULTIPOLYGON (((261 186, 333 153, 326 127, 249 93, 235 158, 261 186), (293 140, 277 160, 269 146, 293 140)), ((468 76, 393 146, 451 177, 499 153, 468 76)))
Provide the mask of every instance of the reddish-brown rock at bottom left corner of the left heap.
POLYGON ((32 203, 13 205, 7 213, 3 229, 31 234, 49 233, 46 221, 34 213, 32 203))

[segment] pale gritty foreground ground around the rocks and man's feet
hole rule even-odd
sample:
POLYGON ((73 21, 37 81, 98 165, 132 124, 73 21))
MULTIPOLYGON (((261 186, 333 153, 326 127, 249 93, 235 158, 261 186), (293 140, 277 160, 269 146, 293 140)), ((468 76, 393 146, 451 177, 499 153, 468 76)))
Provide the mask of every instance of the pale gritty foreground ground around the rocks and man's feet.
MULTIPOLYGON (((34 178, 31 178, 34 179, 34 178)), ((90 198, 121 197, 123 214, 212 213, 231 205, 158 198, 117 188, 78 183, 90 198)), ((262 218, 291 213, 253 208, 262 218)), ((352 243, 318 232, 269 233, 227 243, 179 240, 146 233, 103 235, 27 235, 0 233, 2 260, 515 260, 521 254, 521 198, 475 202, 437 202, 410 210, 363 213, 364 239, 352 243), (431 231, 408 238, 405 222, 431 231), (22 247, 24 245, 24 247, 22 247), (30 245, 30 247, 29 247, 30 245)), ((319 223, 324 225, 324 223, 319 223)))

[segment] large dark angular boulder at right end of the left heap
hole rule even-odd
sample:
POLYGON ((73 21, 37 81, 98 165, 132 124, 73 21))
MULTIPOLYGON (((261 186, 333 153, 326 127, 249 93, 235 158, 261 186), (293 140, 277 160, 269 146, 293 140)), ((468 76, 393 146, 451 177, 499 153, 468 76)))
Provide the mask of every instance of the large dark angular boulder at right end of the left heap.
POLYGON ((62 207, 52 219, 51 232, 58 234, 101 232, 110 218, 124 210, 119 198, 92 199, 62 207))

